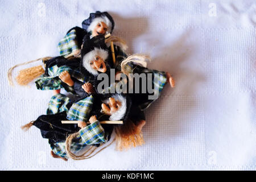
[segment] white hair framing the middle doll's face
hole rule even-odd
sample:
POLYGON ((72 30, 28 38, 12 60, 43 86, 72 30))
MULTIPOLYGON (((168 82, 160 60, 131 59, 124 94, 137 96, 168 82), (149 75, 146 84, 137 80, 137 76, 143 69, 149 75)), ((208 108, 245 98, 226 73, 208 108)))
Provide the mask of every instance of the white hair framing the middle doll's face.
POLYGON ((82 58, 82 65, 88 72, 92 73, 92 75, 97 76, 98 72, 96 69, 90 67, 90 61, 95 60, 96 56, 100 56, 104 61, 108 58, 109 53, 104 49, 94 48, 94 50, 86 53, 82 58))

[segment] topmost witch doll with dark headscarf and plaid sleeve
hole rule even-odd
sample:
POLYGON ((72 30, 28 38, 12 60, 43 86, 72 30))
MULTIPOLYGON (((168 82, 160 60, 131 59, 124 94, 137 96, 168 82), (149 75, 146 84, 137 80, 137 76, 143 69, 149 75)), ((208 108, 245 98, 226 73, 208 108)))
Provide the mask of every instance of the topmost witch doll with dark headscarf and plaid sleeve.
POLYGON ((61 39, 58 45, 60 55, 68 56, 71 53, 78 55, 85 35, 90 35, 92 38, 93 36, 112 33, 113 29, 114 20, 107 12, 90 13, 89 18, 82 22, 82 28, 71 28, 67 35, 61 39))

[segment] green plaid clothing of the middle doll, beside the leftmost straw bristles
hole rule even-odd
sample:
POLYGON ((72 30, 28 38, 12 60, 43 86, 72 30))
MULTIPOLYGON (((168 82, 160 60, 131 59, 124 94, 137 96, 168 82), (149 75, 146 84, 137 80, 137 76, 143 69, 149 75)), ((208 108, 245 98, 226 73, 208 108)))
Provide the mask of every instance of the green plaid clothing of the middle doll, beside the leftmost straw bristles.
POLYGON ((76 78, 81 82, 86 82, 85 78, 80 73, 79 68, 72 69, 65 65, 61 67, 54 65, 53 67, 48 68, 49 76, 44 74, 35 80, 36 88, 39 90, 57 90, 64 88, 67 92, 75 93, 72 86, 68 86, 67 84, 64 86, 64 83, 60 80, 59 75, 64 71, 68 71, 72 78, 76 78))

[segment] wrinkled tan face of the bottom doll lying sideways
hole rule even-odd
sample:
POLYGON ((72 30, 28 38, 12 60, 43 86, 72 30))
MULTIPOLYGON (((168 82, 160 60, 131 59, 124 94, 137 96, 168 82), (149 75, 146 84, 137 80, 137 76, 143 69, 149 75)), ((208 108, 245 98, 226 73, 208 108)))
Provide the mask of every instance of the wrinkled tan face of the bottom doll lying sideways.
POLYGON ((105 114, 112 115, 113 113, 118 111, 121 106, 121 101, 115 100, 114 98, 110 97, 107 104, 101 104, 101 109, 102 111, 104 111, 105 114))

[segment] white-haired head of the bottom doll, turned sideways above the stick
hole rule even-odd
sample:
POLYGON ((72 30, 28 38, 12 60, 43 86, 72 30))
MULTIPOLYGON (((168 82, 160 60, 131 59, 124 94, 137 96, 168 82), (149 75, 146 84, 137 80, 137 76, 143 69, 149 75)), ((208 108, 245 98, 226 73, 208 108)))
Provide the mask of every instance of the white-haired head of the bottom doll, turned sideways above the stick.
POLYGON ((102 102, 101 109, 106 115, 110 115, 110 121, 125 118, 127 113, 126 97, 121 94, 114 94, 102 102))

